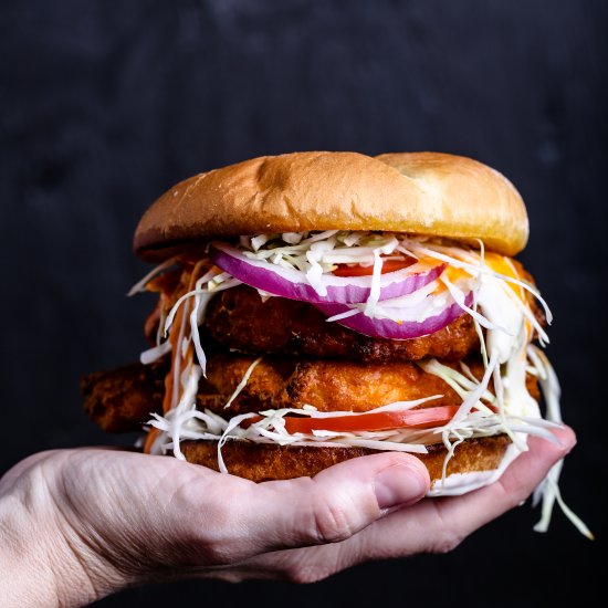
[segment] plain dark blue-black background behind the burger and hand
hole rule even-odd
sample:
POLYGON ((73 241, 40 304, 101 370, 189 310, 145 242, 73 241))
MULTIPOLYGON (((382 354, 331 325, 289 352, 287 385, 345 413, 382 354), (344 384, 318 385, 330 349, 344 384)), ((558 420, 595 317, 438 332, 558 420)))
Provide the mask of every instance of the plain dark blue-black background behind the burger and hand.
MULTIPOLYGON (((598 1, 3 1, 0 472, 106 443, 78 378, 137 357, 151 301, 130 253, 144 209, 195 172, 306 149, 441 150, 527 202, 522 255, 555 313, 548 354, 578 431, 563 493, 599 536, 528 506, 453 554, 321 584, 157 586, 101 606, 536 606, 589 600, 606 538, 608 4, 598 1)), ((130 441, 128 438, 127 441, 130 441)), ((601 597, 601 596, 600 596, 601 597)))

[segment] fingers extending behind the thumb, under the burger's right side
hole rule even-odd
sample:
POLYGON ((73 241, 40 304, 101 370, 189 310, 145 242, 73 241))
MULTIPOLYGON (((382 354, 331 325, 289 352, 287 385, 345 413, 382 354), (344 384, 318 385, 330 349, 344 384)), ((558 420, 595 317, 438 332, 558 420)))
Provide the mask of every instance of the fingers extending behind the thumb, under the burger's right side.
POLYGON ((516 506, 575 444, 570 429, 555 433, 556 445, 530 439, 522 454, 496 483, 448 499, 429 499, 374 522, 346 541, 253 557, 240 565, 296 583, 312 583, 370 559, 453 549, 474 530, 516 506))

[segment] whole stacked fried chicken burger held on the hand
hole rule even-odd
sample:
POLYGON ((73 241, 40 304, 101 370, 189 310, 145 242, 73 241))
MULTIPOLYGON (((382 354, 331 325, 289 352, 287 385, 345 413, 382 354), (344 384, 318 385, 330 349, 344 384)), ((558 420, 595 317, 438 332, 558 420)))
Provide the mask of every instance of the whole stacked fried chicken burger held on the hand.
POLYGON ((388 450, 427 465, 431 495, 492 483, 560 422, 551 313, 513 258, 527 237, 512 184, 460 156, 200 174, 137 227, 156 264, 132 290, 158 295, 149 348, 86 377, 85 409, 107 431, 144 427, 147 453, 255 482, 388 450))

